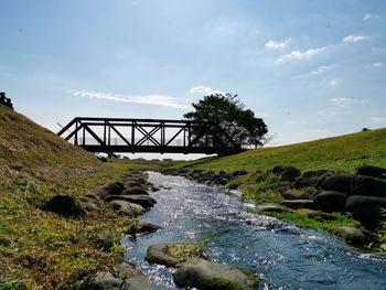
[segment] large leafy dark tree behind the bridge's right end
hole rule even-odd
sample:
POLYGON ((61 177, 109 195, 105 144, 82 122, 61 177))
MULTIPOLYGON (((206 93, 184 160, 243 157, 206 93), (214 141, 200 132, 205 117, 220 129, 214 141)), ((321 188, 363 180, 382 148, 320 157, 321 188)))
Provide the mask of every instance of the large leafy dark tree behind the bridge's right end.
MULTIPOLYGON (((256 118, 250 109, 245 109, 237 95, 214 94, 192 104, 194 111, 184 118, 194 121, 213 121, 222 127, 238 144, 259 147, 264 144, 268 128, 261 118, 256 118)), ((199 132, 193 132, 199 133, 199 132)), ((223 139, 223 143, 227 140, 223 139)))

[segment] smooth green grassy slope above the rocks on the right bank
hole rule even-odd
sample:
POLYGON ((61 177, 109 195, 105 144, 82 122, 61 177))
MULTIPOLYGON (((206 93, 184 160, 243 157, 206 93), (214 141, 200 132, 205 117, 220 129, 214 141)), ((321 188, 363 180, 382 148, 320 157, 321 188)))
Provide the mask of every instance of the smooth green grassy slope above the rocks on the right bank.
POLYGON ((213 171, 250 171, 267 170, 280 164, 294 165, 302 171, 330 169, 353 172, 363 164, 386 168, 386 128, 277 148, 247 150, 235 155, 208 158, 183 165, 213 171))

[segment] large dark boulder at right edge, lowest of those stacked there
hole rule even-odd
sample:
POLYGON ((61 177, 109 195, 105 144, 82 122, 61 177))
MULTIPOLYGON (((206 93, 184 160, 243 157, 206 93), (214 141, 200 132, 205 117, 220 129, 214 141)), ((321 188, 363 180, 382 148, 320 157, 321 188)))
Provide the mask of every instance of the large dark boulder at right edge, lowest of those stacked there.
POLYGON ((346 211, 368 229, 376 229, 386 221, 382 208, 386 208, 386 198, 383 197, 354 195, 346 201, 346 211))

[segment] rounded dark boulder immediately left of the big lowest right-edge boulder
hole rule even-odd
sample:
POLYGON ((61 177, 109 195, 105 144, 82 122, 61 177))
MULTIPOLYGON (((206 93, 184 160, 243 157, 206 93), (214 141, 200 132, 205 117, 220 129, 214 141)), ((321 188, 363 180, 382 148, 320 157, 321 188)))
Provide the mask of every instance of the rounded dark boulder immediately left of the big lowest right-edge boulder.
POLYGON ((347 195, 334 192, 334 191, 324 191, 313 198, 313 203, 318 210, 321 210, 326 213, 333 212, 345 212, 347 195))

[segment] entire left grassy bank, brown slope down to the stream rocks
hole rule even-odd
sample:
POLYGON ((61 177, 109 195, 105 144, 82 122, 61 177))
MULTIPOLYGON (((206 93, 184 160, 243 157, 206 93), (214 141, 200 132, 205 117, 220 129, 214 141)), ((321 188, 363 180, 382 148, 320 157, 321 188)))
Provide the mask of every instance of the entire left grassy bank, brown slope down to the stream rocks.
POLYGON ((41 208, 137 169, 156 164, 103 163, 0 106, 0 289, 89 289, 96 271, 120 262, 120 238, 137 219, 106 206, 83 218, 41 208))

